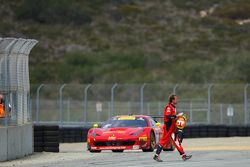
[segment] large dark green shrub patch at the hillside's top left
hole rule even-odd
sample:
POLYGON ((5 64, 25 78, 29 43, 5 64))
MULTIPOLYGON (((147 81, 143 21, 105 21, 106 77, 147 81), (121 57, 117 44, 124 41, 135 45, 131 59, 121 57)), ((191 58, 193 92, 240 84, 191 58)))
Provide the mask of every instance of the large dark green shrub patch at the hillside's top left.
POLYGON ((47 24, 89 24, 92 11, 68 0, 24 0, 16 9, 17 19, 47 24))

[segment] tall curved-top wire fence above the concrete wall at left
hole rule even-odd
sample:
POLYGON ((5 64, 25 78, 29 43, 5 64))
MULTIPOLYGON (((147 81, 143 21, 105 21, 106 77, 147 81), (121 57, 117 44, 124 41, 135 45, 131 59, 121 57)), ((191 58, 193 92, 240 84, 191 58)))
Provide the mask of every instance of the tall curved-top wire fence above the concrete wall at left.
POLYGON ((4 97, 0 125, 31 121, 29 111, 29 53, 37 41, 0 38, 0 94, 4 97))

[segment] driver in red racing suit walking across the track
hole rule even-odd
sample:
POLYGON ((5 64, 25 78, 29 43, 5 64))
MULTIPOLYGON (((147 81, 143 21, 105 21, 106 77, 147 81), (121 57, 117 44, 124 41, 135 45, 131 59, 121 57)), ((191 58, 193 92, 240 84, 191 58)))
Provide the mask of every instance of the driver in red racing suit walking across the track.
MULTIPOLYGON (((164 109, 164 114, 163 114, 163 116, 164 116, 163 136, 157 145, 156 153, 153 157, 153 159, 156 160, 157 162, 162 162, 159 155, 163 149, 163 146, 165 146, 169 142, 169 140, 171 140, 171 135, 176 132, 176 124, 175 124, 175 119, 176 119, 176 107, 175 107, 175 105, 176 104, 177 104, 177 96, 174 94, 170 95, 169 96, 169 103, 166 105, 166 107, 164 109)), ((187 159, 190 159, 192 156, 186 155, 182 146, 181 146, 181 142, 183 139, 182 131, 181 132, 178 131, 178 133, 176 133, 176 135, 177 135, 178 142, 180 143, 180 145, 179 146, 177 146, 176 144, 174 144, 174 145, 177 146, 176 148, 178 149, 180 155, 182 155, 182 159, 184 161, 187 159)))

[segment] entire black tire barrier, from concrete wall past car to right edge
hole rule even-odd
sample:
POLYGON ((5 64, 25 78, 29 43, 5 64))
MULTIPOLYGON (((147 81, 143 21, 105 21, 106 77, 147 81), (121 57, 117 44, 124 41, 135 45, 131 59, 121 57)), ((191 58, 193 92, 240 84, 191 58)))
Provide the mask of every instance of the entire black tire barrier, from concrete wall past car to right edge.
MULTIPOLYGON (((59 143, 86 142, 91 127, 34 126, 34 151, 59 152, 59 143)), ((188 125, 185 138, 250 136, 250 125, 188 125)))

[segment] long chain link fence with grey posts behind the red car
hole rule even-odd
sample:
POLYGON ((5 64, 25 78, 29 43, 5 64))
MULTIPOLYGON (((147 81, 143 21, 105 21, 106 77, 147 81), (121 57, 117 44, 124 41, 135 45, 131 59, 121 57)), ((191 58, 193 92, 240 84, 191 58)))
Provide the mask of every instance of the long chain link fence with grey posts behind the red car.
POLYGON ((37 123, 85 124, 121 114, 161 116, 171 93, 189 124, 250 123, 248 84, 40 84, 31 86, 30 107, 37 123))

